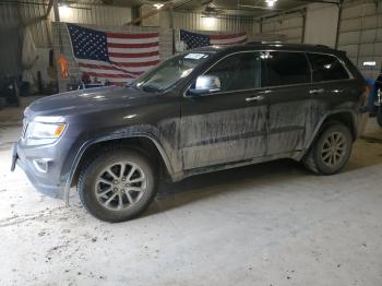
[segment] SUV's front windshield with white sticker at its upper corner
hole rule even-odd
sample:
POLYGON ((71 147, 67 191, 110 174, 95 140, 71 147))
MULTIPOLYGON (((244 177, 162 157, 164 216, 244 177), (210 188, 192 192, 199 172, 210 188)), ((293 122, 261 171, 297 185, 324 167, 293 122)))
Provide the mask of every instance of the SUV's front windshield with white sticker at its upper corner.
POLYGON ((134 85, 145 92, 160 92, 174 86, 204 62, 211 53, 188 52, 164 61, 154 70, 142 75, 134 85))

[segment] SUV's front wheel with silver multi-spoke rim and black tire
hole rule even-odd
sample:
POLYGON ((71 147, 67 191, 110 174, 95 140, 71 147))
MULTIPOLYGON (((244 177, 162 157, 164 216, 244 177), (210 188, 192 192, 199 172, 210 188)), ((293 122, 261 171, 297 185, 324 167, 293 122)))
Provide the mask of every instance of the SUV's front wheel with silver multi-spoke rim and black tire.
POLYGON ((110 223, 124 222, 143 213, 154 200, 156 188, 151 162, 135 150, 121 148, 106 151, 91 159, 82 169, 77 183, 80 200, 86 211, 110 223), (121 176, 122 166, 124 172, 121 176))

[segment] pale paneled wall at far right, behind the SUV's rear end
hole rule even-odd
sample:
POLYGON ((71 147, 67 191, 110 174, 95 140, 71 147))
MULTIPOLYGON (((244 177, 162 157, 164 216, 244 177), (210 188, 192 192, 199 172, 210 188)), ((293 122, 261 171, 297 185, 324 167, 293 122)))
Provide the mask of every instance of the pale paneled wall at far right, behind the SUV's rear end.
POLYGON ((377 78, 382 62, 382 5, 375 1, 345 2, 338 48, 358 65, 363 75, 377 78), (362 67, 363 61, 377 61, 375 68, 362 67))

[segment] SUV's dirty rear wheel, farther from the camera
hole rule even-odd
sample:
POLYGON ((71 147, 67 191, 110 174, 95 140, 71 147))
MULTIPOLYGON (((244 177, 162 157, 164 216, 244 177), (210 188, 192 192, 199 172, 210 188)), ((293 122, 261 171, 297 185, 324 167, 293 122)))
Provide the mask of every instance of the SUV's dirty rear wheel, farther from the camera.
POLYGON ((320 132, 302 163, 315 174, 333 175, 342 170, 348 162, 351 146, 353 135, 349 129, 342 123, 332 123, 320 132), (332 145, 335 153, 330 147, 330 143, 334 141, 336 143, 332 145))

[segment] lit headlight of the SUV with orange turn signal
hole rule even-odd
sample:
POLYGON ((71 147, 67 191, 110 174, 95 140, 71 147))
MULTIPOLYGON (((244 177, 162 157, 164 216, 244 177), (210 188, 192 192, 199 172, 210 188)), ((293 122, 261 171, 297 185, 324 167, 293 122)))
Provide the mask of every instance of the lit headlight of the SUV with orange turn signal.
POLYGON ((51 144, 62 135, 65 127, 65 123, 31 122, 25 133, 26 144, 51 144))

